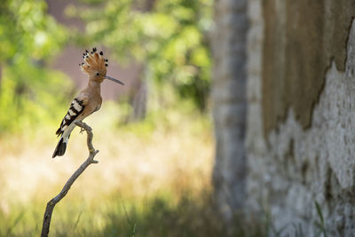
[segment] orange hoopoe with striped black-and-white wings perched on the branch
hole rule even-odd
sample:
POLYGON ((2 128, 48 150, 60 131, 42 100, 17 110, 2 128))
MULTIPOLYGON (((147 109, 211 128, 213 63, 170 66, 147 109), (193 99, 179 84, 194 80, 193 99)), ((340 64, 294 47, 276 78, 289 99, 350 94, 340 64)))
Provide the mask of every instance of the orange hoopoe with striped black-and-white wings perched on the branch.
POLYGON ((89 83, 83 91, 70 104, 67 115, 64 116, 56 134, 60 136, 52 158, 66 153, 67 141, 70 133, 75 128, 75 122, 82 121, 87 116, 99 110, 102 99, 100 95, 100 84, 105 80, 124 85, 121 81, 106 75, 107 59, 103 57, 102 51, 98 52, 93 48, 91 52, 83 53, 83 63, 79 64, 81 70, 90 76, 89 83))

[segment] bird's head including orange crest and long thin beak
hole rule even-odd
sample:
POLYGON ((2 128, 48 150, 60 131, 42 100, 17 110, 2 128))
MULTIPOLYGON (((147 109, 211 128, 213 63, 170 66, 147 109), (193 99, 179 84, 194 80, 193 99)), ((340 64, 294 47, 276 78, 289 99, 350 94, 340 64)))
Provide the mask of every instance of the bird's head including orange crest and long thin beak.
POLYGON ((90 80, 102 83, 105 79, 124 85, 121 81, 106 75, 108 60, 104 58, 104 53, 96 48, 83 53, 83 62, 79 64, 80 69, 90 75, 90 80))

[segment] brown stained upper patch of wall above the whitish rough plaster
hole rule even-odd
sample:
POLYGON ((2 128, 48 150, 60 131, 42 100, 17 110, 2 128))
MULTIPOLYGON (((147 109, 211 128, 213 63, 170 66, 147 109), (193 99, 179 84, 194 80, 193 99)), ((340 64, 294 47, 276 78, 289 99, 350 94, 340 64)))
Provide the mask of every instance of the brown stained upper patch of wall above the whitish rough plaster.
POLYGON ((264 133, 286 119, 288 107, 308 128, 331 60, 344 71, 355 1, 264 0, 262 7, 264 133))

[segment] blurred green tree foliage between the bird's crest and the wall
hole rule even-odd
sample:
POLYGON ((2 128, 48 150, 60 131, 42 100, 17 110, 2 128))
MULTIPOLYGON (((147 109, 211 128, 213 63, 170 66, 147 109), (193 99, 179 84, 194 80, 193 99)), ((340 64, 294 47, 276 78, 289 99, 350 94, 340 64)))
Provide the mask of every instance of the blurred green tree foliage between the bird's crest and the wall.
MULTIPOLYGON (((145 64, 142 77, 162 95, 166 86, 204 110, 209 94, 208 32, 212 0, 83 0, 69 8, 87 22, 84 44, 103 43, 117 59, 145 64)), ((162 98, 161 98, 162 99, 162 98)))

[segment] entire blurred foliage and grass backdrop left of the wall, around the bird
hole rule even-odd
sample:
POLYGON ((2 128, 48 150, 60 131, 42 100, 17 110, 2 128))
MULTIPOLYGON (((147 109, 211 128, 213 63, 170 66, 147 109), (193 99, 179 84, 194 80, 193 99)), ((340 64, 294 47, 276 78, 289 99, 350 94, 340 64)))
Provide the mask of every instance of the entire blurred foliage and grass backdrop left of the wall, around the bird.
POLYGON ((104 103, 86 119, 99 164, 54 209, 51 236, 222 236, 211 205, 212 0, 4 0, 0 4, 0 236, 35 236, 46 202, 86 159, 55 130, 103 50, 104 103))

